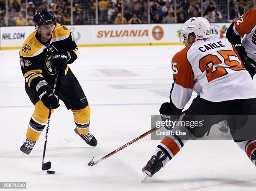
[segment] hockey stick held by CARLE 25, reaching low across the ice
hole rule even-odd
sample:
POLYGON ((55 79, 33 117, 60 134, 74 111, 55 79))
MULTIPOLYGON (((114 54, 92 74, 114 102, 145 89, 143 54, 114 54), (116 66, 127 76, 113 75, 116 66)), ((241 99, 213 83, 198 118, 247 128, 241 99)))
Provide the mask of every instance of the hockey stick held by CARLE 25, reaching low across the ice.
MULTIPOLYGON (((186 113, 187 110, 185 110, 184 112, 182 112, 181 116, 184 115, 186 113)), ((131 140, 130 142, 126 143, 123 146, 120 146, 119 148, 117 148, 115 151, 112 151, 111 153, 107 154, 106 156, 103 156, 102 158, 100 158, 97 161, 94 161, 93 158, 92 160, 88 163, 88 166, 93 166, 97 163, 99 163, 100 161, 103 161, 104 159, 110 157, 111 155, 117 153, 118 151, 121 151, 122 149, 124 149, 125 147, 128 147, 129 145, 131 145, 132 143, 135 143, 136 141, 140 140, 141 138, 153 133, 154 131, 156 131, 157 127, 152 128, 151 130, 147 131, 146 133, 143 133, 142 135, 138 136, 137 138, 134 138, 133 140, 131 140)))

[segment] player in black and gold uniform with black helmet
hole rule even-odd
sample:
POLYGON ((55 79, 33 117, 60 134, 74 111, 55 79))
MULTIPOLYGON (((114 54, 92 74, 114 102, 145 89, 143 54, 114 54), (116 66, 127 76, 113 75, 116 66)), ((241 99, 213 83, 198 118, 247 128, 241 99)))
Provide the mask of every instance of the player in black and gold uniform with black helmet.
POLYGON ((25 90, 35 105, 28 123, 26 141, 20 151, 29 154, 47 123, 49 108, 59 107, 61 99, 74 114, 75 133, 90 146, 97 140, 89 132, 90 107, 87 98, 69 64, 77 59, 77 45, 71 31, 57 24, 49 10, 36 11, 33 17, 36 31, 20 48, 20 66, 25 78, 25 90), (53 84, 56 68, 59 71, 56 90, 53 84))

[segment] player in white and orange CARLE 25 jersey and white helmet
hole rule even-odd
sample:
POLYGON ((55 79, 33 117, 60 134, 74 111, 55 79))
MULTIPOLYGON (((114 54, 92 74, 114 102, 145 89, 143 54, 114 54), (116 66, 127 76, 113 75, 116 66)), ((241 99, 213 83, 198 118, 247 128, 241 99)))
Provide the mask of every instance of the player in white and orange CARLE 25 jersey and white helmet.
MULTIPOLYGON (((142 169, 148 176, 153 176, 181 150, 189 133, 202 138, 213 124, 225 120, 222 116, 256 114, 256 87, 236 49, 228 41, 209 35, 210 24, 205 18, 190 18, 182 25, 180 40, 186 48, 172 58, 174 83, 170 102, 161 105, 160 113, 162 121, 168 115, 175 121, 175 115, 182 113, 194 90, 198 96, 184 119, 189 121, 195 115, 216 115, 216 118, 206 120, 208 128, 174 127, 183 128, 187 135, 166 136, 159 143, 142 169)), ((236 140, 234 136, 233 139, 255 165, 256 140, 236 140)))

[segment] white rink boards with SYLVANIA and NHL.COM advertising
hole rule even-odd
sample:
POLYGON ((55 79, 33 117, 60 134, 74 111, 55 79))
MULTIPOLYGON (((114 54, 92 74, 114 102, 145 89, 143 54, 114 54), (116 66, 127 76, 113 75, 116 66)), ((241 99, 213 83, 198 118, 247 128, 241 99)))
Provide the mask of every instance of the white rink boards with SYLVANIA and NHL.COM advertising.
MULTIPOLYGON (((225 38, 230 23, 212 23, 211 37, 225 38)), ((147 25, 70 25, 74 40, 79 47, 181 45, 182 24, 147 25)), ((0 27, 0 50, 19 49, 34 26, 0 27)))

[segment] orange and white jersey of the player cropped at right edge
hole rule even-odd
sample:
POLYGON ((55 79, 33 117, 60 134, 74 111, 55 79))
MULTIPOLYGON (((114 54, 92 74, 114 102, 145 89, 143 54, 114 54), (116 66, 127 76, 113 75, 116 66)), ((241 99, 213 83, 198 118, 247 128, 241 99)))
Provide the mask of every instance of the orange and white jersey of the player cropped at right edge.
POLYGON ((256 60, 256 8, 244 13, 234 22, 234 32, 243 38, 247 56, 256 60))

